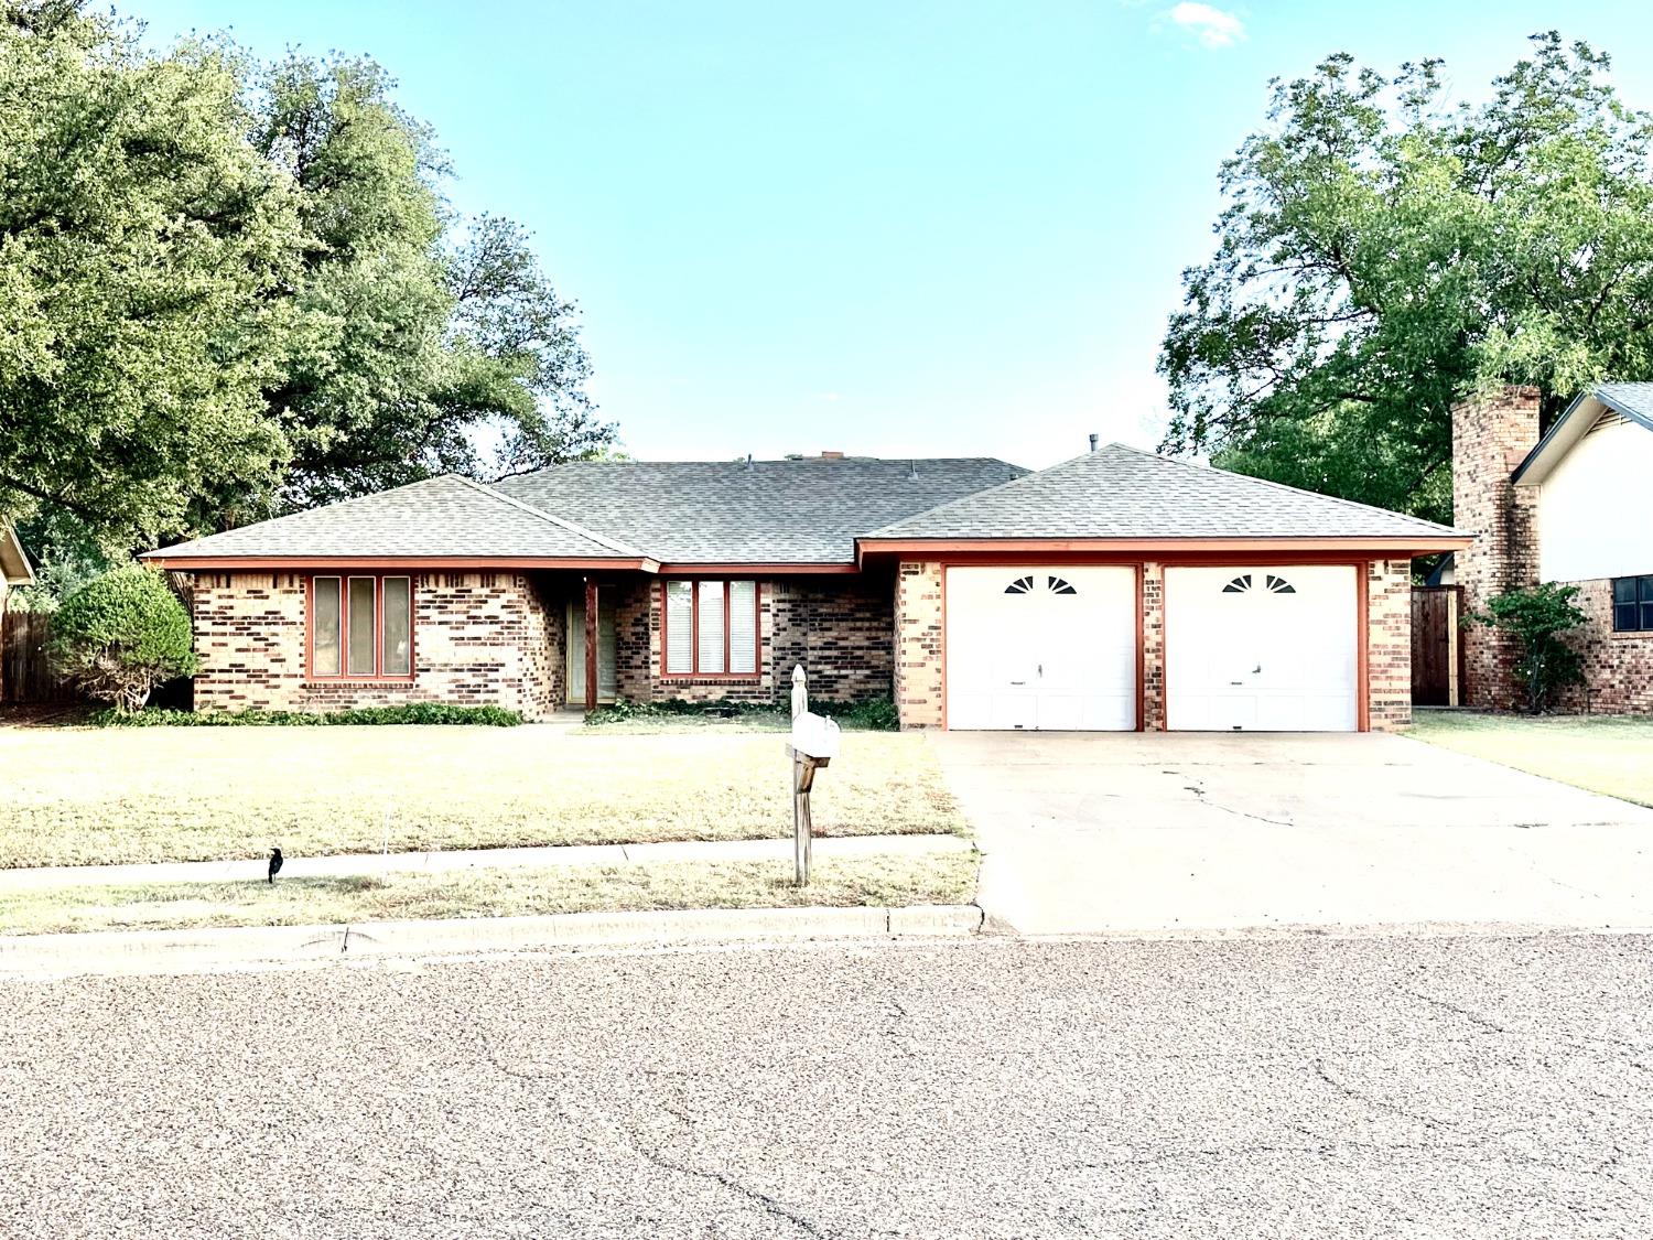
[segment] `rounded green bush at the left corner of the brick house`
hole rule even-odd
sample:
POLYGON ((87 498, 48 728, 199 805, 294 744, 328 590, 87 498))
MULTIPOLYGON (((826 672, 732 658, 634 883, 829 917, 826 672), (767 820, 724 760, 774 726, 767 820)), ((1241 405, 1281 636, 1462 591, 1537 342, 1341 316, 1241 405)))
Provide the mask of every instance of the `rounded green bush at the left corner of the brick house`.
POLYGON ((162 681, 195 675, 188 612, 159 572, 137 564, 69 594, 51 632, 58 668, 117 711, 141 709, 162 681))

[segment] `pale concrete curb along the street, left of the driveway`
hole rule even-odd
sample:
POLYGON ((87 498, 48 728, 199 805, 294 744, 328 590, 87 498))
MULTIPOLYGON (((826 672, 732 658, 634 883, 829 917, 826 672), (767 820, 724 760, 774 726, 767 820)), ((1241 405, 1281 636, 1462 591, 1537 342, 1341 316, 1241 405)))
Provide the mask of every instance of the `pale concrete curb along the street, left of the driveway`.
POLYGON ((370 921, 357 926, 246 926, 0 936, 0 979, 185 974, 327 964, 362 957, 453 956, 585 946, 669 946, 747 939, 883 939, 975 934, 975 904, 917 908, 671 909, 529 918, 370 921))

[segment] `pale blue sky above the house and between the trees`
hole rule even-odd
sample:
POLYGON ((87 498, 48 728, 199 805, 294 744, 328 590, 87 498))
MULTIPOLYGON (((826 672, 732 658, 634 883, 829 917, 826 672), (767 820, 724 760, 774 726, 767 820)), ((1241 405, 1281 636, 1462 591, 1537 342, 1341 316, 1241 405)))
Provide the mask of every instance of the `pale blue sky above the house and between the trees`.
POLYGON ((150 40, 369 53, 455 205, 534 230, 643 458, 1154 446, 1179 273, 1271 76, 1445 56, 1479 96, 1559 26, 1653 106, 1643 2, 127 0, 150 40), (1180 18, 1180 20, 1179 20, 1180 18))

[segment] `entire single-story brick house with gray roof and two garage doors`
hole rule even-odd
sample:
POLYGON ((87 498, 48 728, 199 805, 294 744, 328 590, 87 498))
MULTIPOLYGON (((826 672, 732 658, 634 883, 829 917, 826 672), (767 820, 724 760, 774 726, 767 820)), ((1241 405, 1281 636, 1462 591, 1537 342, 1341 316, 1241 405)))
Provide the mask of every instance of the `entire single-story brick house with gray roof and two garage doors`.
POLYGON ((906 727, 1410 718, 1410 560, 1466 537, 1111 445, 995 460, 577 461, 433 478, 150 552, 207 709, 893 696, 906 727))

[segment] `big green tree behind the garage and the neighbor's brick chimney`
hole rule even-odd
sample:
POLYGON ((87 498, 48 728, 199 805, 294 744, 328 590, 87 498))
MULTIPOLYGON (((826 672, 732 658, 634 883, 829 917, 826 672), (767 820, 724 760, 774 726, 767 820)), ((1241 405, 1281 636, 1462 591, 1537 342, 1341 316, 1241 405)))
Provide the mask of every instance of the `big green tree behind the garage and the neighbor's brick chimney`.
POLYGON ((1438 60, 1276 79, 1184 273, 1164 446, 1446 519, 1456 400, 1653 375, 1653 126, 1607 76, 1551 31, 1474 106, 1438 60))

